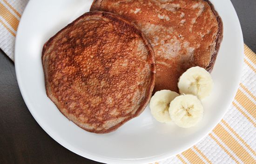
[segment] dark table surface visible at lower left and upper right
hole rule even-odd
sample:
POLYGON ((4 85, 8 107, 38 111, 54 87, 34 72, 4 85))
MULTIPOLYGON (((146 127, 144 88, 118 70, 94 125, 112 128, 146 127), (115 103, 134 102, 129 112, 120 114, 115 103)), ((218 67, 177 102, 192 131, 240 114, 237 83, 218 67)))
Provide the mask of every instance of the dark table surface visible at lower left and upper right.
MULTIPOLYGON (((256 0, 231 0, 243 38, 256 52, 256 0)), ((0 50, 0 164, 94 164, 52 139, 29 113, 17 84, 14 63, 0 50)))

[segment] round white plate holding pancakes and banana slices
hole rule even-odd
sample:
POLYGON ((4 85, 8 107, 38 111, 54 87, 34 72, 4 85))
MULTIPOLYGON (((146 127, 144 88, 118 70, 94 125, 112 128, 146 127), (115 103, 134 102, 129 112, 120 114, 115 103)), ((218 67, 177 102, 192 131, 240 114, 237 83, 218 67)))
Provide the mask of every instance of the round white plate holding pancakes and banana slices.
POLYGON ((203 101, 202 122, 183 129, 156 122, 149 108, 108 134, 86 132, 64 117, 45 92, 43 44, 82 13, 92 0, 30 0, 20 20, 15 69, 21 94, 34 119, 58 143, 85 158, 104 163, 149 163, 185 151, 207 135, 233 100, 243 63, 243 36, 229 0, 212 0, 224 25, 224 37, 212 77, 213 93, 203 101))

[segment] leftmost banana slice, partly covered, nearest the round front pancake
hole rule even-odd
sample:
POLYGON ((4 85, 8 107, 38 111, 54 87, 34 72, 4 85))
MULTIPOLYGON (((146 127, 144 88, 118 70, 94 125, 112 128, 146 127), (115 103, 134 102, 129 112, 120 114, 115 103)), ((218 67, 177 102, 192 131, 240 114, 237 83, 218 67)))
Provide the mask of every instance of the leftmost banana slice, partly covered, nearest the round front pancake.
POLYGON ((169 115, 170 102, 179 94, 170 90, 160 90, 155 92, 149 102, 149 108, 153 117, 162 123, 171 122, 169 115))

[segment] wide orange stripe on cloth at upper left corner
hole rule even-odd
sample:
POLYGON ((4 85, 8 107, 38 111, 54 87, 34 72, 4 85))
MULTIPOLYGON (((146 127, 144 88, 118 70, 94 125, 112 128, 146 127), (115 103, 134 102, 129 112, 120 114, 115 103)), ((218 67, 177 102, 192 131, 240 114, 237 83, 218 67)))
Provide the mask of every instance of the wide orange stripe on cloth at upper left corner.
POLYGON ((17 31, 19 20, 2 3, 0 3, 0 16, 17 31))

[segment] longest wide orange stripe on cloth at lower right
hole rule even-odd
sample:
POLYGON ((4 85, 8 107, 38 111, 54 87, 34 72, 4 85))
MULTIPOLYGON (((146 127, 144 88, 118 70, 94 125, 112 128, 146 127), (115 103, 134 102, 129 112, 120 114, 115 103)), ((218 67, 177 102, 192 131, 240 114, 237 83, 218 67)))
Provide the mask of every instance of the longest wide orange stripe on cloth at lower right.
POLYGON ((233 151, 238 158, 244 163, 253 164, 256 162, 251 155, 227 132, 220 124, 218 124, 213 132, 222 140, 222 142, 233 151))

